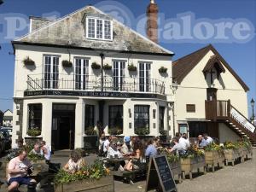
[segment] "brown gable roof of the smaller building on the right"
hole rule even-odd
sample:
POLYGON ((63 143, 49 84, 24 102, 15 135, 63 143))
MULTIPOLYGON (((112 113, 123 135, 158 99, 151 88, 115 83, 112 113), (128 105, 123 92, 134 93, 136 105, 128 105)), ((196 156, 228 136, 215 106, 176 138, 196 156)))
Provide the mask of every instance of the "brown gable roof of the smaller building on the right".
POLYGON ((226 67, 230 73, 236 78, 236 80, 241 84, 242 88, 247 91, 249 88, 241 78, 236 74, 236 72, 230 67, 230 65, 224 60, 224 58, 219 55, 218 51, 212 46, 212 44, 207 45, 202 49, 198 49, 195 52, 183 56, 177 61, 172 62, 172 77, 174 81, 177 81, 177 84, 181 84, 183 79, 192 71, 192 69, 201 61, 201 59, 207 55, 207 53, 212 50, 215 58, 218 58, 222 62, 224 67, 226 67))

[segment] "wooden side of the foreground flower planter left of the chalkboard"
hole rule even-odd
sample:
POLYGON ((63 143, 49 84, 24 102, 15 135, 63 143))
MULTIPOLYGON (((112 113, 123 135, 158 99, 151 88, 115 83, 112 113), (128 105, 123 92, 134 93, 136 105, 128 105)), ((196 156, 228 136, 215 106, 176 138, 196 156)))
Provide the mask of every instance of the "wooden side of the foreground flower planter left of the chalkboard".
POLYGON ((113 176, 102 177, 99 180, 85 179, 55 186, 55 192, 113 192, 113 176))

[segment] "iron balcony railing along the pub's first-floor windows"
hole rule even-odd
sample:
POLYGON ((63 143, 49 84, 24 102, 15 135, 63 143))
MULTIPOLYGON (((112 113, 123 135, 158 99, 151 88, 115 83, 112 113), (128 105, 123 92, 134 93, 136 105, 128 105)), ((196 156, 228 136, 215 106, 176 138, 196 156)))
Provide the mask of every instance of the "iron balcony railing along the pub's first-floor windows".
POLYGON ((121 91, 165 94, 165 83, 158 79, 67 74, 27 75, 27 90, 121 91), (103 80, 103 84, 102 84, 103 80))

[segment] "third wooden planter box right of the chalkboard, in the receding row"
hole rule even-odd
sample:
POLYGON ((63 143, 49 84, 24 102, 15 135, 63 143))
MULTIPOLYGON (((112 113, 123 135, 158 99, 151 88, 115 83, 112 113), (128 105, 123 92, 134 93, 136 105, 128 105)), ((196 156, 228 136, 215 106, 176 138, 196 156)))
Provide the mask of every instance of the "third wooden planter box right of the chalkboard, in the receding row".
POLYGON ((208 167, 212 166, 212 172, 215 171, 215 166, 222 166, 224 167, 224 153, 218 151, 205 151, 205 159, 207 164, 207 171, 208 167))

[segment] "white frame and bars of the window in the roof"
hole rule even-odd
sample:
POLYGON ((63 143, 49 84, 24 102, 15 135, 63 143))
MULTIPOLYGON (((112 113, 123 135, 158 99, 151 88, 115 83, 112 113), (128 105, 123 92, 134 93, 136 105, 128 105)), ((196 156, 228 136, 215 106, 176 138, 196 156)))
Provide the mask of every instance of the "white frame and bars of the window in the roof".
POLYGON ((113 20, 106 20, 102 18, 96 18, 96 17, 86 17, 86 38, 88 39, 97 39, 97 40, 103 40, 103 41, 113 41, 113 20), (94 20, 94 29, 95 34, 94 38, 89 37, 89 19, 94 20), (97 20, 102 20, 102 38, 97 38, 97 20), (105 38, 105 21, 110 22, 110 38, 105 38))

